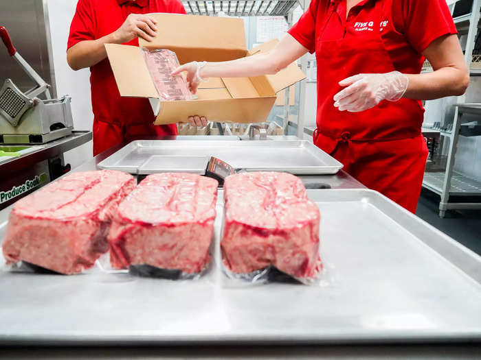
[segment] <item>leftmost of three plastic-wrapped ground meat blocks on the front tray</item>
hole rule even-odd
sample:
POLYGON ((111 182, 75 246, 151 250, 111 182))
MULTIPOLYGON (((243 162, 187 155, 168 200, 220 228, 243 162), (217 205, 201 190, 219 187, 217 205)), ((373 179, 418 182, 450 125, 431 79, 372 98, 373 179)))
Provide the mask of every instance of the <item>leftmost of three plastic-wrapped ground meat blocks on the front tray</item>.
POLYGON ((101 170, 71 173, 16 202, 3 241, 7 263, 27 261, 61 274, 92 267, 107 252, 118 204, 133 176, 101 170))

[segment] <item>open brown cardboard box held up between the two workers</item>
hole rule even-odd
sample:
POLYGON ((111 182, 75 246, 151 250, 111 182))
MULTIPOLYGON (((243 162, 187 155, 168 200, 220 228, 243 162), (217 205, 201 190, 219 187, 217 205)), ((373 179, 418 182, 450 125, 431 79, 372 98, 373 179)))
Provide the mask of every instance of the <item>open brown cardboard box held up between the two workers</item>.
MULTIPOLYGON (((140 47, 169 49, 181 64, 190 61, 226 61, 269 51, 277 39, 247 51, 242 19, 180 14, 150 14, 157 20, 157 36, 150 43, 139 38, 140 47)), ((107 56, 120 95, 157 98, 142 50, 130 45, 106 44, 107 56)), ((260 123, 265 121, 278 91, 305 78, 295 63, 276 75, 211 78, 200 84, 198 99, 160 101, 155 124, 186 121, 201 115, 212 121, 260 123)))

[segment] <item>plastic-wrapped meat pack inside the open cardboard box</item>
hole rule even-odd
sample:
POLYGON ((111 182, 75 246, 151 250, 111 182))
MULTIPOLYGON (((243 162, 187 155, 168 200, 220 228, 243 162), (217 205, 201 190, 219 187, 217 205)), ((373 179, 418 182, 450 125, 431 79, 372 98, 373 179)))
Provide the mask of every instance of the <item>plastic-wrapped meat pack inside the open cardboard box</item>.
POLYGON ((177 60, 175 52, 166 49, 148 51, 143 47, 142 53, 160 99, 197 99, 197 96, 190 92, 186 79, 182 76, 172 77, 170 75, 179 67, 179 60, 177 60))

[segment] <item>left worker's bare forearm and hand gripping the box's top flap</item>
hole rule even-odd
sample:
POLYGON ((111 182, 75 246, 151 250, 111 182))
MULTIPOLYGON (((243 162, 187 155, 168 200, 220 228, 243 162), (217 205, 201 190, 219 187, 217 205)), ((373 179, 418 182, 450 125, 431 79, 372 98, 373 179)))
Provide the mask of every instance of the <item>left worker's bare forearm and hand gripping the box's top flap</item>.
POLYGON ((107 58, 105 44, 128 43, 136 36, 151 41, 155 36, 157 22, 150 16, 130 14, 115 32, 96 40, 83 40, 67 50, 67 62, 74 70, 91 67, 107 58))

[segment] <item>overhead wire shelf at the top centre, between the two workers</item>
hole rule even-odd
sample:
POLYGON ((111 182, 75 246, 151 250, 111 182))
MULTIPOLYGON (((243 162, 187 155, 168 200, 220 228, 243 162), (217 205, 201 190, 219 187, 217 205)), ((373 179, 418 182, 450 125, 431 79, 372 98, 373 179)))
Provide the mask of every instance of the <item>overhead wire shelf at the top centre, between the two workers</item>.
POLYGON ((298 6, 297 0, 250 1, 182 1, 186 12, 192 15, 214 16, 287 16, 298 6))

